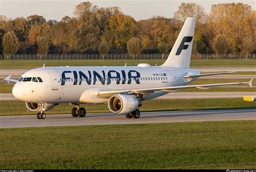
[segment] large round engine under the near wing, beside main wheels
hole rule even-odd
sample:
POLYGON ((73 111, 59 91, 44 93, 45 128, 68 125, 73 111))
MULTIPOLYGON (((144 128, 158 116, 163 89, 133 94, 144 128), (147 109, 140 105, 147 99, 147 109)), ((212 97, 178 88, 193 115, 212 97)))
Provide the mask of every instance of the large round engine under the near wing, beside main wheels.
POLYGON ((142 106, 142 102, 138 101, 137 97, 130 95, 114 95, 107 102, 109 109, 113 113, 129 113, 142 106))

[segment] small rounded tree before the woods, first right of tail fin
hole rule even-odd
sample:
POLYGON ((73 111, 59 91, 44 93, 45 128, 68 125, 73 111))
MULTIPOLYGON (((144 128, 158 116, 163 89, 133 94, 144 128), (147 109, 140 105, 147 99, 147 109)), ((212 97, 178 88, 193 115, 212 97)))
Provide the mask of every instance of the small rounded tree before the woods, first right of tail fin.
POLYGON ((217 54, 228 53, 228 41, 224 35, 219 34, 215 37, 215 41, 213 42, 213 49, 217 54))

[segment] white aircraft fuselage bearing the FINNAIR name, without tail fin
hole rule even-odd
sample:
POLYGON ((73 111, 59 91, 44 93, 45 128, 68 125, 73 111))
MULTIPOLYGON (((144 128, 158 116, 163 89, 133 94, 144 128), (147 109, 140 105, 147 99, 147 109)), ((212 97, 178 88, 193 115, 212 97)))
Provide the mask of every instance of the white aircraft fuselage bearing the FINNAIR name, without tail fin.
MULTIPOLYGON (((32 69, 21 77, 40 77, 43 82, 19 81, 12 93, 30 103, 107 103, 98 91, 106 89, 139 89, 186 85, 199 71, 186 68, 155 67, 139 64, 131 67, 44 67, 32 69)), ((156 91, 144 99, 167 94, 156 91)), ((143 100, 144 100, 143 99, 143 100)))

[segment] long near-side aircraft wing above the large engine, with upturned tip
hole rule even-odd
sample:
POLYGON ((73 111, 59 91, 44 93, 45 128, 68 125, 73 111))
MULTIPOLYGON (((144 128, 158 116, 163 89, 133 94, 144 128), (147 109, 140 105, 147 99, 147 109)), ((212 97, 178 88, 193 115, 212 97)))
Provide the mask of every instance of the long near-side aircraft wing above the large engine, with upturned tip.
POLYGON ((252 80, 249 82, 233 82, 233 83, 220 83, 220 84, 198 84, 198 85, 182 85, 182 86, 172 86, 172 87, 159 87, 159 88, 146 88, 146 89, 131 89, 131 90, 101 90, 98 92, 99 97, 109 98, 116 94, 144 94, 146 92, 154 91, 165 91, 172 92, 172 90, 177 90, 180 88, 199 88, 199 89, 209 89, 210 87, 220 86, 220 85, 237 85, 237 84, 249 84, 252 87, 252 80))

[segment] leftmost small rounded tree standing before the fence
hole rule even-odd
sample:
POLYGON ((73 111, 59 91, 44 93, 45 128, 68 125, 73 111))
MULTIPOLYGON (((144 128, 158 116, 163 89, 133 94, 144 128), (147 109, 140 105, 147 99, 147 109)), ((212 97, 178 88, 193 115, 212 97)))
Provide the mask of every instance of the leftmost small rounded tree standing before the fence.
POLYGON ((4 34, 2 44, 3 54, 7 55, 7 59, 9 59, 9 55, 15 54, 18 51, 18 38, 12 31, 4 34))

